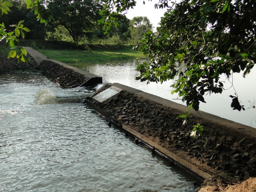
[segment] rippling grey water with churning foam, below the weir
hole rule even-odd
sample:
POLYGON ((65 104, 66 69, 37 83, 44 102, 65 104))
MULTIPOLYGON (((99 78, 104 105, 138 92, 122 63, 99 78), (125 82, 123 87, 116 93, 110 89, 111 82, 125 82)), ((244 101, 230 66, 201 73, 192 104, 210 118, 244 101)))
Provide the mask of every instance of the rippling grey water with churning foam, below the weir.
POLYGON ((108 127, 92 108, 59 100, 83 98, 93 91, 64 90, 41 74, 0 75, 0 189, 184 192, 195 188, 194 177, 108 127))

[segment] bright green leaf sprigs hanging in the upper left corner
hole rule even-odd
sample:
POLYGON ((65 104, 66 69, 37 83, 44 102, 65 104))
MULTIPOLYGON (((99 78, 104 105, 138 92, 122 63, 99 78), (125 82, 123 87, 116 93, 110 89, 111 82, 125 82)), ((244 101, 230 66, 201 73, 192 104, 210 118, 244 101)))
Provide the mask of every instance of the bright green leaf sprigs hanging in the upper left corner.
MULTIPOLYGON (((37 15, 37 19, 40 20, 40 23, 47 24, 52 16, 47 12, 44 5, 41 4, 42 0, 26 0, 27 9, 31 9, 35 15, 37 15)), ((0 0, 0 17, 3 14, 8 14, 10 12, 10 7, 12 7, 12 3, 10 1, 0 0)), ((21 20, 16 25, 11 25, 12 29, 7 29, 5 27, 4 22, 0 23, 0 41, 5 40, 6 45, 10 45, 12 51, 9 52, 8 58, 18 58, 18 62, 28 62, 27 51, 23 47, 19 47, 19 50, 16 51, 15 47, 19 44, 18 38, 24 38, 25 33, 29 32, 29 29, 25 27, 22 23, 24 20, 21 20)))

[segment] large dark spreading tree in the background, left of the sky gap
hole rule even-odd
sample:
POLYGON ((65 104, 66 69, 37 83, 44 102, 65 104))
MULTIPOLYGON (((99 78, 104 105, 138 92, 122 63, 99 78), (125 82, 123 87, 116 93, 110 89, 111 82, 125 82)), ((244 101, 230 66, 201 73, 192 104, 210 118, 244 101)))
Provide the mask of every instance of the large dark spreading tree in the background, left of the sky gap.
POLYGON ((98 27, 102 5, 96 0, 49 0, 47 8, 54 23, 65 27, 74 42, 77 42, 83 33, 92 32, 98 27))

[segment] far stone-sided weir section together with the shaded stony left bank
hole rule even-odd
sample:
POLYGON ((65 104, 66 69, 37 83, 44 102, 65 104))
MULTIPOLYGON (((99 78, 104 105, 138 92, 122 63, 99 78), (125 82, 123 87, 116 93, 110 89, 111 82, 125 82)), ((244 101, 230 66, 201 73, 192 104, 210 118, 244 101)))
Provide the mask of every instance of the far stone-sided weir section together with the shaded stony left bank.
POLYGON ((6 56, 0 55, 0 73, 41 71, 45 76, 50 77, 64 88, 75 88, 102 83, 102 77, 100 76, 96 76, 60 61, 51 60, 31 47, 25 48, 28 51, 30 61, 28 63, 17 63, 17 59, 7 59, 6 56))

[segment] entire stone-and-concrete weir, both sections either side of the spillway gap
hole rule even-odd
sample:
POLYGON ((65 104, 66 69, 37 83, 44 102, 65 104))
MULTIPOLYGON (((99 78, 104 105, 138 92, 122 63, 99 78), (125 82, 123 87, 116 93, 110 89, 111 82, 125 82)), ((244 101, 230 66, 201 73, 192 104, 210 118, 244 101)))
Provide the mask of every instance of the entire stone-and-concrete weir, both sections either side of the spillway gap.
MULTIPOLYGON (((102 83, 102 77, 50 60, 26 47, 43 73, 64 88, 102 83)), ((174 164, 204 179, 206 185, 237 183, 256 176, 256 129, 203 111, 190 111, 170 100, 122 84, 104 84, 85 102, 109 121, 148 145, 174 164), (193 125, 202 136, 190 136, 193 125)))

